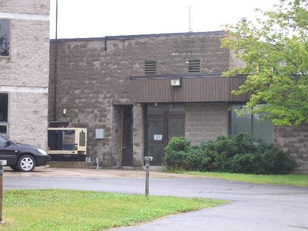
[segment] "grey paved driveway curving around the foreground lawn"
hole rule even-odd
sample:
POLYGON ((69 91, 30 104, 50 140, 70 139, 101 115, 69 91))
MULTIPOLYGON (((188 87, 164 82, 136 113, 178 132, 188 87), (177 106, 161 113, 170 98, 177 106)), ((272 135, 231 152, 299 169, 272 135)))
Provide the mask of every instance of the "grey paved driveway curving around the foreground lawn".
MULTIPOLYGON (((144 171, 94 169, 37 169, 22 174, 6 169, 4 189, 67 188, 144 194, 144 175, 144 171)), ((230 203, 112 230, 308 230, 308 187, 163 172, 150 172, 149 184, 150 195, 206 197, 230 203)))

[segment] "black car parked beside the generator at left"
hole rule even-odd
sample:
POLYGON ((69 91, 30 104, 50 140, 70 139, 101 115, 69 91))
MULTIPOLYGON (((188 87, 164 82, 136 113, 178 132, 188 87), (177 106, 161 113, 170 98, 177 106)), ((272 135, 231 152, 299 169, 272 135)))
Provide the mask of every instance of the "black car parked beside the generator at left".
POLYGON ((15 143, 0 134, 0 160, 17 171, 33 171, 36 166, 47 165, 50 156, 39 147, 15 143))

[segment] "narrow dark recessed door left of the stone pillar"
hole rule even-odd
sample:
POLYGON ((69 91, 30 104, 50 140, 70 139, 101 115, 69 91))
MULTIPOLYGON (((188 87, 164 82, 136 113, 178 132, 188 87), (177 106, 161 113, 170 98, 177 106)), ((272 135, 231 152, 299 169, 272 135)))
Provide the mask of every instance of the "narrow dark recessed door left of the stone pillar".
POLYGON ((122 107, 122 166, 132 166, 133 107, 122 107))

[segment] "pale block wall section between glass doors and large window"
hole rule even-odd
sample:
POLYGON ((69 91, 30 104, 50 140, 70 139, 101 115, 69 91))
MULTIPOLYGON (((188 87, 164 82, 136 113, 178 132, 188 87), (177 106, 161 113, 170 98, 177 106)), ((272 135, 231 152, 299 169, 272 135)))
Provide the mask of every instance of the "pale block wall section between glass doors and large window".
POLYGON ((192 145, 216 140, 227 134, 227 108, 225 103, 186 103, 185 137, 192 145))

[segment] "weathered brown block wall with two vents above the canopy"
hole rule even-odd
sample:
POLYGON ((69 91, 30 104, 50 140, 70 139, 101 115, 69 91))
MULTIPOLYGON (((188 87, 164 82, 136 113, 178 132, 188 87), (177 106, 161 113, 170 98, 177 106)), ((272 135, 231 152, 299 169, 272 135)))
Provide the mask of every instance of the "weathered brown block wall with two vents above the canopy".
MULTIPOLYGON (((69 127, 88 128, 87 156, 100 156, 103 165, 119 166, 116 161, 119 145, 115 140, 120 133, 114 132, 119 127, 119 118, 113 118, 118 115, 112 112, 112 105, 129 103, 129 76, 144 75, 146 60, 157 61, 157 74, 188 73, 186 62, 190 59, 201 60, 201 72, 225 71, 229 67, 229 50, 220 48, 223 36, 226 34, 144 35, 121 40, 109 37, 107 50, 104 38, 58 40, 55 118, 55 42, 51 41, 48 121, 68 120, 69 127), (63 108, 67 109, 65 115, 63 108), (95 127, 105 128, 104 141, 94 140, 95 127)), ((143 165, 144 155, 140 110, 140 105, 134 105, 133 165, 136 166, 143 165)))

